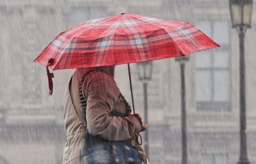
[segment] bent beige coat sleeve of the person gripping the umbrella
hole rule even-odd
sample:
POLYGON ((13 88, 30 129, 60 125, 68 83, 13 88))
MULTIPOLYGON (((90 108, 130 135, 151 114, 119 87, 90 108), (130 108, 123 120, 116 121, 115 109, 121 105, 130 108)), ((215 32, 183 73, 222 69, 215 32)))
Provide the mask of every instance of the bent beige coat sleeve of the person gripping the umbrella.
POLYGON ((86 121, 90 134, 120 141, 132 138, 133 133, 141 130, 140 122, 133 115, 110 116, 120 90, 108 75, 95 73, 88 83, 87 91, 86 121))

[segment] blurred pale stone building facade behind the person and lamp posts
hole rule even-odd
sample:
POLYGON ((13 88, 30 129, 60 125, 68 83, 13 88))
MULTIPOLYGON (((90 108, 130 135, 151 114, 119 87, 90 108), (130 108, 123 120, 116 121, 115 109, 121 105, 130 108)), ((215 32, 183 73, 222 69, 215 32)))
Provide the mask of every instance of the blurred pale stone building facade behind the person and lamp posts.
MULTIPOLYGON (((256 1, 245 36, 248 157, 256 163, 256 1)), ((122 12, 186 21, 221 45, 193 53, 185 66, 188 163, 233 164, 239 157, 239 38, 228 0, 54 0, 0 2, 0 163, 62 163, 66 142, 64 88, 74 70, 54 71, 48 97, 46 69, 33 60, 62 31, 122 12)), ((143 86, 131 64, 136 111, 143 118, 143 86)), ((181 163, 180 67, 174 58, 153 62, 148 82, 151 164, 181 163), (155 117, 157 116, 157 117, 155 117)), ((116 82, 131 103, 126 65, 116 82), (124 80, 125 79, 125 80, 124 80)), ((143 133, 142 133, 143 134, 143 133)))

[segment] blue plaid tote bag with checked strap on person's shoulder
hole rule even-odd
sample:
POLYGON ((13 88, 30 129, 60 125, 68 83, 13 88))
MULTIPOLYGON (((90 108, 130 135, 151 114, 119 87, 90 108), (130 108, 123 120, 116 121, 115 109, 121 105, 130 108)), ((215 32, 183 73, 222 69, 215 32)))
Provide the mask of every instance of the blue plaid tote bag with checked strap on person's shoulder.
MULTIPOLYGON (((98 70, 93 70, 98 71, 98 70)), ((79 97, 86 114, 86 99, 83 96, 82 84, 84 77, 90 73, 83 75, 79 84, 79 97)), ((121 94, 121 93, 120 93, 121 94)), ((124 99, 123 95, 121 97, 124 99)), ((129 107, 128 102, 124 99, 125 104, 129 107)), ((129 107, 131 109, 131 107, 129 107)), ((117 111, 112 111, 111 116, 124 117, 117 111)), ((86 120, 85 120, 86 121, 86 120)), ((135 134, 129 140, 111 141, 105 140, 100 135, 93 136, 86 128, 82 147, 80 150, 80 164, 146 164, 146 153, 135 143, 135 134)))

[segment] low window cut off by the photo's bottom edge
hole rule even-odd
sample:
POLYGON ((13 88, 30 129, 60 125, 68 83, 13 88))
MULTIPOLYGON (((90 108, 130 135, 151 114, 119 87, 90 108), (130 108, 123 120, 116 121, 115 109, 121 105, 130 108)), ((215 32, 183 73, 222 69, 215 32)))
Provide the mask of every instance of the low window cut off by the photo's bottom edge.
POLYGON ((203 154, 200 164, 227 164, 227 154, 203 154))

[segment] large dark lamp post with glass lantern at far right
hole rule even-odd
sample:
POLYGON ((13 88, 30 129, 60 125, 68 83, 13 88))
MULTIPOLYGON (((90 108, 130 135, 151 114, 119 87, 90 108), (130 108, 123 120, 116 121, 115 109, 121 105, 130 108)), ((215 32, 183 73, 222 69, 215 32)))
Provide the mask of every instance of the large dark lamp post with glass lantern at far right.
POLYGON ((237 164, 249 164, 246 148, 245 62, 244 35, 251 28, 252 0, 229 0, 232 28, 236 28, 240 40, 240 157, 237 164))

